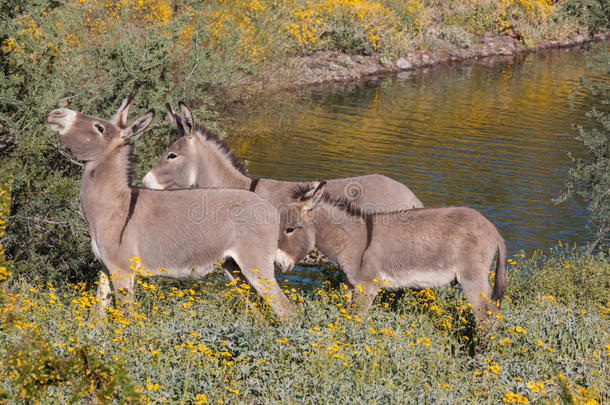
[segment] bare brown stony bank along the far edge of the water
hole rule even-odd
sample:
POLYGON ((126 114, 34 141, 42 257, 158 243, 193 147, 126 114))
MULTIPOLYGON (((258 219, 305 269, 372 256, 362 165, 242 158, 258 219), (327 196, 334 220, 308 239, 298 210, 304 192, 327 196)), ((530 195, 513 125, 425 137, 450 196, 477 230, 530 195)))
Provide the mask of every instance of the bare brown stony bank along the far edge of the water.
POLYGON ((397 73, 492 56, 511 57, 528 52, 567 48, 591 41, 609 39, 610 31, 603 31, 595 35, 578 34, 564 40, 543 40, 534 46, 527 46, 518 38, 490 33, 480 37, 478 43, 469 48, 413 51, 394 60, 383 60, 379 55, 348 55, 337 51, 324 51, 294 57, 288 63, 268 66, 258 80, 241 83, 240 91, 235 95, 235 99, 246 101, 260 92, 274 93, 308 85, 360 80, 371 75, 397 73))

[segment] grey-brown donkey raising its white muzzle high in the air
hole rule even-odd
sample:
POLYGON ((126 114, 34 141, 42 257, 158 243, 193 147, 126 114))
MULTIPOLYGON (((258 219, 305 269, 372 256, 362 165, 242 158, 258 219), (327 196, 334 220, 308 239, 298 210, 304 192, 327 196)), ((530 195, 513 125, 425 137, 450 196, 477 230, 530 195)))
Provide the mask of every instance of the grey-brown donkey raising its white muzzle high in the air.
MULTIPOLYGON (((273 273, 279 232, 275 208, 245 190, 131 187, 129 141, 154 117, 151 110, 127 126, 131 102, 132 97, 125 99, 111 121, 65 108, 47 117, 61 144, 85 162, 81 210, 93 253, 110 273, 119 303, 133 295, 136 274, 130 258, 140 257, 153 276, 199 278, 214 270, 215 261, 231 257, 280 319, 292 317, 293 306, 273 273), (121 288, 125 294, 117 294, 121 288)), ((98 287, 104 306, 110 302, 107 283, 102 277, 98 287)))

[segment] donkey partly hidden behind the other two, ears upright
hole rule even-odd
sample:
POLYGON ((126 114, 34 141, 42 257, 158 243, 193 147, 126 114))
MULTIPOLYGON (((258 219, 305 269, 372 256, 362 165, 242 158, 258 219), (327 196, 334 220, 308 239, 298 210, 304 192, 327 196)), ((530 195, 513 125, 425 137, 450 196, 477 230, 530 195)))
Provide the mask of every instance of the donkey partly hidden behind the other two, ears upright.
MULTIPOLYGON (((144 186, 154 189, 242 188, 254 191, 279 208, 293 201, 291 194, 295 185, 306 184, 248 177, 227 144, 197 125, 183 102, 179 105, 182 117, 174 114, 169 104, 166 107, 170 120, 182 136, 146 174, 144 186)), ((379 174, 328 180, 327 192, 334 198, 346 198, 372 212, 423 206, 404 184, 379 174)))

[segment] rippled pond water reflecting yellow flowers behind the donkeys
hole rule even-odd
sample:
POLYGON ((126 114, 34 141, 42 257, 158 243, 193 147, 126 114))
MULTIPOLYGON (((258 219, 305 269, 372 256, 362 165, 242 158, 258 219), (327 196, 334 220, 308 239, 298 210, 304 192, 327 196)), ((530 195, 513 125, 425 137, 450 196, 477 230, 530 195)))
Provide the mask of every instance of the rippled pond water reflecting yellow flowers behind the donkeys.
POLYGON ((253 176, 382 173, 424 205, 480 210, 527 253, 590 239, 583 204, 552 202, 583 151, 583 74, 581 49, 486 59, 282 95, 224 125, 253 176))

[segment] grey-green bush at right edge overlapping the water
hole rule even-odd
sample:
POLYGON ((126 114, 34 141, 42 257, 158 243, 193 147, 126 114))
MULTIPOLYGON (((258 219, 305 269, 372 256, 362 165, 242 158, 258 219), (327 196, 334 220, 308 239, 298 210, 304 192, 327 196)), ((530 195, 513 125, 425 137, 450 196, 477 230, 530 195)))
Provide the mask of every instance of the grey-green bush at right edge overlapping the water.
POLYGON ((590 125, 578 126, 578 139, 582 141, 586 156, 575 160, 570 169, 567 190, 560 201, 577 195, 587 204, 588 227, 595 237, 589 251, 610 243, 610 51, 605 44, 590 52, 592 68, 601 71, 598 80, 581 78, 580 89, 600 100, 587 113, 590 125))

